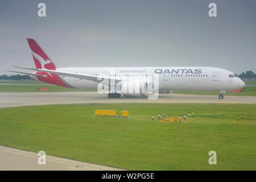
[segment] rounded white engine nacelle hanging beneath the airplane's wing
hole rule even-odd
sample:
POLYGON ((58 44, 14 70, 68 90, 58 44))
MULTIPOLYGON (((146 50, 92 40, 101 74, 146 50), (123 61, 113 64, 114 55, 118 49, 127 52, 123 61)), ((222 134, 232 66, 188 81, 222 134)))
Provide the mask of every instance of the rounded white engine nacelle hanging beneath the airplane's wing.
POLYGON ((124 96, 147 96, 148 84, 142 80, 128 80, 122 82, 120 90, 124 96))

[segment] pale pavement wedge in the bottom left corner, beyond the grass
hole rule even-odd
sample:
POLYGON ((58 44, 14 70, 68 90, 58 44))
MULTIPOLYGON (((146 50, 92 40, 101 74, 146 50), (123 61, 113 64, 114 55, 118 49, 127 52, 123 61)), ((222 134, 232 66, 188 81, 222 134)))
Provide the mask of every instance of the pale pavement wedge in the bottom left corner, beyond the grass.
POLYGON ((90 164, 79 162, 76 160, 57 158, 46 154, 46 165, 38 164, 38 154, 35 152, 28 152, 18 150, 10 147, 0 146, 0 171, 7 170, 76 170, 76 171, 117 171, 121 169, 100 166, 97 164, 90 164))

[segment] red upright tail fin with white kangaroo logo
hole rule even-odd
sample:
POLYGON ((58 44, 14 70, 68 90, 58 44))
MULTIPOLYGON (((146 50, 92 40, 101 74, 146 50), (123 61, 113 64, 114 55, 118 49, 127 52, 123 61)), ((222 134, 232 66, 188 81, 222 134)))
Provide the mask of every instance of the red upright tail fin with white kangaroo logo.
POLYGON ((57 67, 52 63, 52 61, 34 39, 27 39, 27 42, 28 45, 30 45, 36 68, 56 70, 57 67))

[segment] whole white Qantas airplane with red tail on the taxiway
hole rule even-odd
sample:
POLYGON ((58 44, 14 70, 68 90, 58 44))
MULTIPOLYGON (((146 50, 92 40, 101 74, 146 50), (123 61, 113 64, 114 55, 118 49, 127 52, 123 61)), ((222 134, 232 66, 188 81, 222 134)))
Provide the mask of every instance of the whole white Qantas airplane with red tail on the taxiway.
POLYGON ((147 96, 155 91, 171 93, 172 90, 198 90, 219 91, 218 98, 222 99, 226 90, 245 86, 233 72, 212 67, 58 68, 34 39, 27 41, 36 68, 14 67, 35 72, 10 72, 23 73, 35 80, 67 88, 101 88, 108 93, 109 98, 120 98, 122 95, 147 96))

